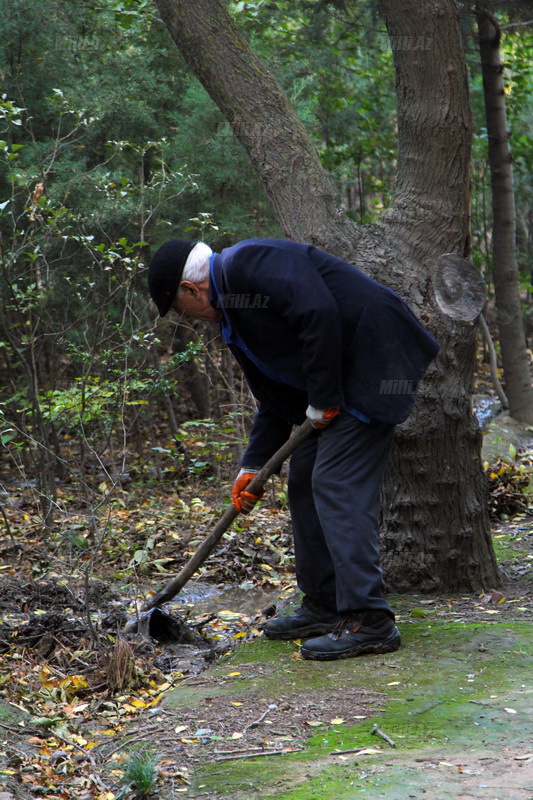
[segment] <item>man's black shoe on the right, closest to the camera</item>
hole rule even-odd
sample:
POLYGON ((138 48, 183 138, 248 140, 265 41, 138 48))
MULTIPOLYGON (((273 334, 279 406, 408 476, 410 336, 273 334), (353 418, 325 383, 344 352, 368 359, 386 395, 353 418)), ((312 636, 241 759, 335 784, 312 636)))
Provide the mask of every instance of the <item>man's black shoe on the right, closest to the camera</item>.
POLYGON ((364 653, 390 653, 401 644, 400 631, 385 611, 349 614, 334 631, 302 645, 303 658, 336 661, 364 653))

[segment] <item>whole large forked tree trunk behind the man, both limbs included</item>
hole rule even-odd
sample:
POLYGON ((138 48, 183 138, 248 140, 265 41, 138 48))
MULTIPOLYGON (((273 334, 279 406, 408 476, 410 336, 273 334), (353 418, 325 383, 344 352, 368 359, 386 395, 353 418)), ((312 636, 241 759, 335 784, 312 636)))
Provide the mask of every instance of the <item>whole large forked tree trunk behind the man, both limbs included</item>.
POLYGON ((332 188, 281 88, 221 0, 155 0, 189 66, 248 150, 286 235, 357 264, 403 295, 442 350, 401 426, 386 481, 384 566, 399 590, 479 590, 498 582, 488 535, 481 435, 470 410, 471 323, 432 310, 432 267, 467 251, 470 116, 453 0, 384 0, 397 45, 399 170, 377 228, 337 208, 332 188), (412 31, 416 30, 416 39, 412 31), (427 42, 409 50, 402 43, 427 42))

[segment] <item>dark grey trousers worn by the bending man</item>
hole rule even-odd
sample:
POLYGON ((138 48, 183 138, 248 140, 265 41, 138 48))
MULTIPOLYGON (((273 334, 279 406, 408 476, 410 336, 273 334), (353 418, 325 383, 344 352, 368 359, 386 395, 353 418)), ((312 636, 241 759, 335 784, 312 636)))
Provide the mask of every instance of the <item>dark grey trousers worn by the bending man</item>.
POLYGON ((301 591, 339 614, 381 609, 380 487, 395 426, 347 412, 292 455, 289 504, 301 591))

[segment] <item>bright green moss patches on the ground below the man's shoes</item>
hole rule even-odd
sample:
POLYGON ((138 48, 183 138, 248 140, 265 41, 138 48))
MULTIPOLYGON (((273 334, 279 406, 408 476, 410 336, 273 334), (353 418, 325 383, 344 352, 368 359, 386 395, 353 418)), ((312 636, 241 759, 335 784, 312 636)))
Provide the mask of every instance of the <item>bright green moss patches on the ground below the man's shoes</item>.
MULTIPOLYGON (((299 753, 204 766, 196 785, 231 800, 342 800, 361 797, 372 787, 379 787, 376 796, 399 800, 404 795, 398 793, 398 786, 402 781, 406 787, 411 785, 410 767, 404 763, 409 754, 414 757, 437 746, 444 751, 447 747, 497 749, 504 736, 517 747, 527 746, 525 684, 533 649, 527 623, 424 619, 405 624, 402 635, 404 646, 397 653, 325 664, 293 661, 293 644, 254 643, 243 648, 247 650, 244 659, 243 652, 234 653, 224 669, 229 671, 237 663, 263 669, 262 676, 257 673, 263 695, 276 684, 279 692, 280 683, 284 691, 301 691, 302 696, 311 686, 325 691, 345 683, 386 692, 385 712, 349 727, 321 727, 299 753), (261 660, 252 661, 251 654, 261 660), (371 734, 374 723, 392 737, 396 749, 371 734), (378 748, 380 754, 348 756, 343 762, 334 753, 368 747, 378 748), (387 773, 396 774, 392 783, 380 772, 384 758, 391 765, 387 773), (376 770, 379 776, 372 777, 369 771, 376 770), (396 794, 387 793, 388 781, 396 794)), ((249 690, 248 681, 243 681, 243 692, 249 690)))

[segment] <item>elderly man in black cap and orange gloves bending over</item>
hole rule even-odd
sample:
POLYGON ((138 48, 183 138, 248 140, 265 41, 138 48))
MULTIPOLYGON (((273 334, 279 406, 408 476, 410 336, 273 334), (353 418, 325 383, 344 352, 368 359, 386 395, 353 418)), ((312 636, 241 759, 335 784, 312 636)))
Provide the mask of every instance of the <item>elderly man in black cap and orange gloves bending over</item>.
POLYGON ((380 486, 395 425, 411 411, 438 345, 393 291, 315 247, 248 239, 212 253, 174 239, 154 255, 149 290, 170 309, 220 323, 259 408, 233 504, 306 416, 316 431, 289 467, 294 614, 266 622, 269 639, 305 638, 314 660, 400 646, 379 565, 380 486))

